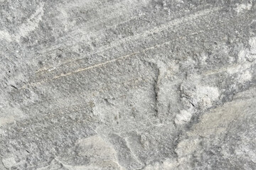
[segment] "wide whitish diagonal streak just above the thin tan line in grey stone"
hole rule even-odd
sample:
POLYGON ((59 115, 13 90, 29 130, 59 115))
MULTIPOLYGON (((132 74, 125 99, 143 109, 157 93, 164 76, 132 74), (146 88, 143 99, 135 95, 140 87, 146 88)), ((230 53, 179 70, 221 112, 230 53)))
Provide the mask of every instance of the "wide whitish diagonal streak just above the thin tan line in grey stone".
MULTIPOLYGON (((171 22, 169 22, 167 24, 164 24, 162 26, 153 28, 151 30, 146 30, 142 34, 136 34, 136 35, 133 35, 132 37, 123 38, 122 40, 118 40, 116 42, 111 43, 111 45, 100 47, 100 50, 97 50, 96 52, 92 52, 91 54, 89 54, 89 56, 90 55, 94 55, 94 54, 98 54, 98 53, 103 52, 105 50, 109 50, 111 48, 116 47, 117 45, 122 45, 122 43, 124 43, 124 42, 132 42, 134 40, 138 40, 138 39, 141 39, 141 38, 146 38, 147 36, 149 36, 151 34, 160 33, 163 30, 168 30, 170 28, 173 28, 174 26, 178 26, 181 23, 191 22, 193 20, 196 20, 196 18, 199 18, 199 17, 202 17, 202 16, 206 16, 209 13, 212 13, 212 12, 215 12, 215 11, 219 11, 219 10, 220 10, 220 8, 213 8, 213 9, 208 9, 207 8, 205 10, 198 11, 197 13, 193 13, 193 14, 191 14, 189 16, 178 18, 178 19, 174 19, 173 21, 171 21, 171 22)), ((83 60, 84 58, 85 57, 82 57, 82 58, 76 59, 76 60, 72 60, 72 61, 68 61, 68 62, 64 62, 63 64, 60 64, 58 67, 63 66, 65 64, 68 64, 70 62, 78 62, 80 60, 83 60)), ((53 69, 53 67, 48 67, 48 69, 50 69, 50 72, 52 72, 53 70, 55 70, 57 68, 53 69)), ((47 71, 48 69, 38 70, 37 72, 47 71)))

